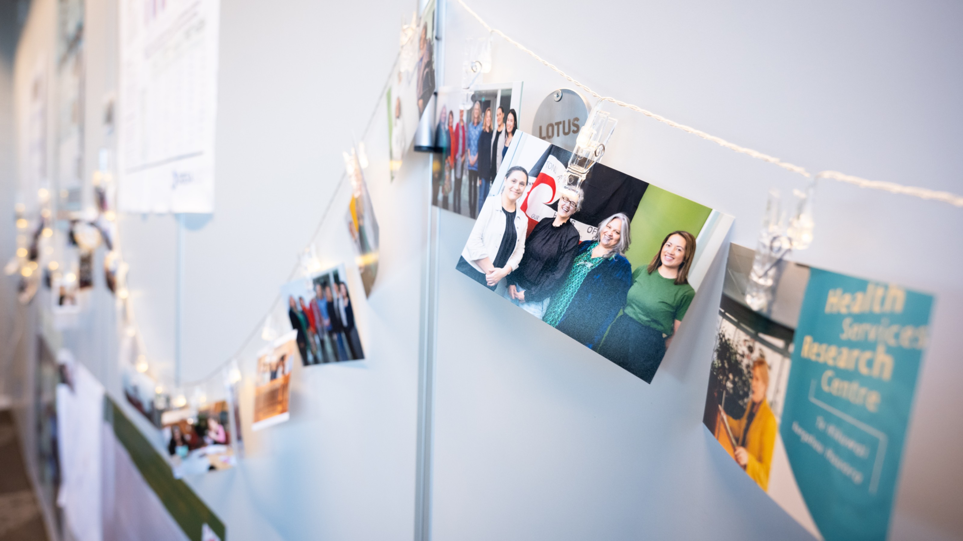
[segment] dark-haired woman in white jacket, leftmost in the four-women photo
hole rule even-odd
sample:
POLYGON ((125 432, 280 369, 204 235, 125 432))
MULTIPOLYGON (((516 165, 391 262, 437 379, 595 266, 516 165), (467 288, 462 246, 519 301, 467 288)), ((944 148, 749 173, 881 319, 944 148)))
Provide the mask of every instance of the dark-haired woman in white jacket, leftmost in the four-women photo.
POLYGON ((492 291, 518 268, 525 253, 528 218, 518 210, 517 202, 528 184, 529 171, 525 167, 508 169, 502 196, 486 198, 468 243, 461 250, 457 270, 492 291))

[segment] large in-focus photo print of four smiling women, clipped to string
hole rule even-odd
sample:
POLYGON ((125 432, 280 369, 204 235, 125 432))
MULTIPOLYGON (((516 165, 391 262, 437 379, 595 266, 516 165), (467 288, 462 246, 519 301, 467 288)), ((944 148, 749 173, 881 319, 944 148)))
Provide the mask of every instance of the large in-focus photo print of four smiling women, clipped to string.
POLYGON ((563 189, 571 153, 498 116, 456 269, 651 383, 732 218, 601 164, 563 189))

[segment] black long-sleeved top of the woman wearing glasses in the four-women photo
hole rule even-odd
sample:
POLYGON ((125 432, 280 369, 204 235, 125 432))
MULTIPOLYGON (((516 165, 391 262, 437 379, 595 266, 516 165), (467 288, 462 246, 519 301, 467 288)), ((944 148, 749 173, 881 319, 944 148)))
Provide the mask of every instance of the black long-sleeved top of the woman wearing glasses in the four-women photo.
POLYGON ((525 290, 525 300, 539 302, 552 296, 565 281, 579 249, 579 230, 569 219, 559 227, 543 218, 525 240, 525 257, 508 274, 508 283, 525 290))

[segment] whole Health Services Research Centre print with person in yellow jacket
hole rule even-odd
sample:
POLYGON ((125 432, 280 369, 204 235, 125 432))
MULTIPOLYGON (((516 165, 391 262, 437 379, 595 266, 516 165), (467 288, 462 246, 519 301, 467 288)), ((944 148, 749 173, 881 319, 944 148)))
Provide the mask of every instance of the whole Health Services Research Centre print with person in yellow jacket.
POLYGON ((704 423, 804 528, 883 539, 933 297, 783 262, 766 311, 731 245, 704 423))

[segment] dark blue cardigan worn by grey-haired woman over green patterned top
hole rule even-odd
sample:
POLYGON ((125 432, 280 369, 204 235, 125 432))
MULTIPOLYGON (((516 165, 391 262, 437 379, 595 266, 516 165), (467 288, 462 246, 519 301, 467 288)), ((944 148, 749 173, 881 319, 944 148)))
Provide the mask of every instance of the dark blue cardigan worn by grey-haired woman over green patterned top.
MULTIPOLYGON (((591 248, 595 241, 579 243, 578 254, 591 248)), ((558 328, 588 348, 598 348, 632 287, 632 264, 624 255, 606 259, 586 275, 575 292, 568 309, 562 314, 558 328)))

